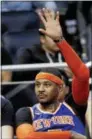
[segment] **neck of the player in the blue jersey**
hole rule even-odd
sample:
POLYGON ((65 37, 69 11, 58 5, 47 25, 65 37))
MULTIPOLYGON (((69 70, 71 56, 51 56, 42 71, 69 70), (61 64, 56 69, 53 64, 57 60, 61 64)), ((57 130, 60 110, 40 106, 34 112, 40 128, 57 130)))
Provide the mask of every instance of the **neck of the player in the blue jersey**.
POLYGON ((44 103, 44 104, 40 104, 40 108, 44 111, 55 112, 59 104, 60 103, 58 101, 54 101, 53 103, 50 104, 44 103))

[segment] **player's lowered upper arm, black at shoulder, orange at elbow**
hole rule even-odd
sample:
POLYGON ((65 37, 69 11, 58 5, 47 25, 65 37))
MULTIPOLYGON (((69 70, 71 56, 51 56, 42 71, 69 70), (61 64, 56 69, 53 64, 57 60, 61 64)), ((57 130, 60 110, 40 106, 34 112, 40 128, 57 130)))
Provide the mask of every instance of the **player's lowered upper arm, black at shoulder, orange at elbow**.
POLYGON ((16 113, 16 135, 18 139, 24 139, 33 131, 32 117, 29 108, 20 108, 16 113))

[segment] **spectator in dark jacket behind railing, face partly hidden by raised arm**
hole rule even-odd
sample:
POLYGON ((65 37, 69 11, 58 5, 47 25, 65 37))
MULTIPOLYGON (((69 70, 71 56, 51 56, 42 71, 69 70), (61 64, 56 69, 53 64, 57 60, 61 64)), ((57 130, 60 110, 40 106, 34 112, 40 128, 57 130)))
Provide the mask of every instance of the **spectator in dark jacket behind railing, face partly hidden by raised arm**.
MULTIPOLYGON (((64 58, 53 40, 40 33, 40 42, 40 45, 34 45, 26 49, 20 48, 15 64, 55 63, 64 61, 64 58)), ((16 72, 14 80, 33 80, 37 72, 38 71, 16 72)))

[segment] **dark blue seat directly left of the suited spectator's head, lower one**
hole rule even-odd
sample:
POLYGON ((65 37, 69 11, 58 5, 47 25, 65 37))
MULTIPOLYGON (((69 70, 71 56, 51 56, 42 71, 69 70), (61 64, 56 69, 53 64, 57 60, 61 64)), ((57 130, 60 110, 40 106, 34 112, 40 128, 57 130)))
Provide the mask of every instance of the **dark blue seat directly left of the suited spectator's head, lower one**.
POLYGON ((34 44, 40 43, 40 36, 37 29, 23 32, 6 32, 2 36, 4 46, 10 53, 12 60, 15 59, 16 52, 20 47, 29 48, 34 44))

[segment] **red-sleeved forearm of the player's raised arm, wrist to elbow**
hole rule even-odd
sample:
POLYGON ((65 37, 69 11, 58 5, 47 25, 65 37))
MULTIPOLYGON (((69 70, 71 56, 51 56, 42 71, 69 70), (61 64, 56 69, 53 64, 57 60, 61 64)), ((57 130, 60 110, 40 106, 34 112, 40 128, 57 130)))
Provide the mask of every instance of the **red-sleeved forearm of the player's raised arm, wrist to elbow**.
POLYGON ((81 61, 76 52, 72 49, 72 47, 66 42, 66 40, 62 40, 57 44, 60 48, 62 55, 65 58, 68 66, 72 70, 73 74, 79 78, 80 80, 88 80, 89 78, 89 70, 86 65, 81 61))

